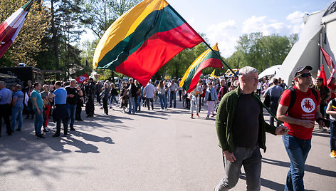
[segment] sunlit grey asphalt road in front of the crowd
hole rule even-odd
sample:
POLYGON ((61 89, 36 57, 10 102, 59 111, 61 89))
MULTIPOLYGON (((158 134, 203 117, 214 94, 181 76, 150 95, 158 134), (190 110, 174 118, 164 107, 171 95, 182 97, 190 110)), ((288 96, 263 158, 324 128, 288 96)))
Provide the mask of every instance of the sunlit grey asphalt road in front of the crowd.
MULTIPOLYGON (((0 138, 0 190, 213 190, 224 177, 214 118, 189 118, 189 110, 120 113, 95 108, 95 118, 75 123, 67 137, 23 131, 0 138)), ((266 118, 268 118, 266 116, 266 118)), ((55 124, 49 122, 54 132, 55 124)), ((63 133, 63 131, 62 131, 63 133)), ((280 136, 267 135, 261 190, 283 190, 290 161, 280 136)), ((315 128, 305 165, 307 190, 335 190, 336 159, 330 158, 329 132, 315 128)), ((243 170, 242 170, 243 172, 243 170)), ((233 190, 246 190, 244 172, 233 190)))

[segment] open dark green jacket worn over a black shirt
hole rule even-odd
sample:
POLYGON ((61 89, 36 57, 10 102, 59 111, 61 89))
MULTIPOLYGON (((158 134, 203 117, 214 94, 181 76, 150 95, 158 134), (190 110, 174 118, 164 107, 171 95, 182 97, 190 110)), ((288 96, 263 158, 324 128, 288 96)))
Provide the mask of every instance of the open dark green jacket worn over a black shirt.
MULTIPOLYGON (((233 144, 233 116, 236 113, 236 107, 238 104, 238 97, 241 95, 240 88, 226 93, 219 103, 219 108, 217 110, 216 116, 216 130, 217 136, 219 139, 219 147, 224 150, 229 150, 233 153, 235 146, 233 144)), ((255 93, 252 93, 253 98, 256 98, 260 105, 261 113, 259 115, 259 147, 263 148, 266 152, 266 131, 275 135, 275 127, 269 125, 263 119, 263 106, 261 105, 261 100, 256 96, 255 93)), ((242 119, 243 120, 243 119, 242 119)))

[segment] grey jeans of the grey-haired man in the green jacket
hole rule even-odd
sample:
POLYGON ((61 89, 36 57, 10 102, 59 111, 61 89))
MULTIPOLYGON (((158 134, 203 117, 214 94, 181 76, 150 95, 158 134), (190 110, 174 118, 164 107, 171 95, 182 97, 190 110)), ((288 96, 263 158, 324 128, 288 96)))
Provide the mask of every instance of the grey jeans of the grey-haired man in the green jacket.
POLYGON ((229 190, 236 186, 242 165, 246 172, 246 190, 260 190, 262 157, 259 146, 255 148, 236 147, 233 155, 236 157, 235 162, 230 162, 224 158, 225 177, 219 182, 215 190, 229 190))

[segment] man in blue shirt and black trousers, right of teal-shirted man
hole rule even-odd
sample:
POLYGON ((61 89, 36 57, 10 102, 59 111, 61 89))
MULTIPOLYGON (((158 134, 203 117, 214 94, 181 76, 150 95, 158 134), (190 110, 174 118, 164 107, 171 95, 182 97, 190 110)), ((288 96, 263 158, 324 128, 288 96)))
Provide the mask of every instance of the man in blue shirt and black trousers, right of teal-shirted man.
POLYGON ((64 136, 68 135, 68 110, 66 108, 66 91, 62 88, 61 81, 56 81, 55 83, 56 91, 51 93, 49 98, 55 98, 55 115, 53 116, 56 120, 56 133, 53 137, 59 137, 61 134, 61 120, 64 128, 64 136))

